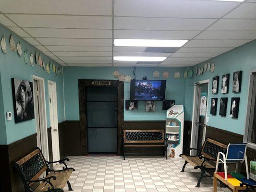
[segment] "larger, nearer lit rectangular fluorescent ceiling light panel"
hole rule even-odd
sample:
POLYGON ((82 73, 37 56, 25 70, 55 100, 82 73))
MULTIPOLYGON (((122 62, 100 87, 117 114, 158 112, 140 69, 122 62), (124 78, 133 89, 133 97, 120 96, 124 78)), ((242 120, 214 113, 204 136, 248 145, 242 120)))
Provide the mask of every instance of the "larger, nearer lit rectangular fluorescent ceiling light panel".
POLYGON ((180 48, 188 40, 168 40, 168 39, 114 39, 115 46, 129 47, 172 47, 180 48))

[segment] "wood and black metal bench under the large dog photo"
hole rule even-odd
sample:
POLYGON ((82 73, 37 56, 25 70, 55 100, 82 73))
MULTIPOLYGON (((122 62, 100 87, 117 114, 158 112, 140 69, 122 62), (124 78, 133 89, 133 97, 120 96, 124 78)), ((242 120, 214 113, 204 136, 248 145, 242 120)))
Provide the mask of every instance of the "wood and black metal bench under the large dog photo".
POLYGON ((12 162, 12 164, 18 171, 24 184, 25 192, 63 192, 66 183, 69 191, 73 191, 68 179, 74 169, 68 168, 65 161, 69 161, 69 159, 65 158, 54 162, 46 161, 41 150, 37 148, 21 160, 12 162), (60 163, 64 167, 61 170, 52 170, 49 168, 49 164, 52 163, 60 163), (46 172, 47 177, 39 179, 44 172, 46 172), (38 183, 37 188, 33 190, 32 185, 38 183))

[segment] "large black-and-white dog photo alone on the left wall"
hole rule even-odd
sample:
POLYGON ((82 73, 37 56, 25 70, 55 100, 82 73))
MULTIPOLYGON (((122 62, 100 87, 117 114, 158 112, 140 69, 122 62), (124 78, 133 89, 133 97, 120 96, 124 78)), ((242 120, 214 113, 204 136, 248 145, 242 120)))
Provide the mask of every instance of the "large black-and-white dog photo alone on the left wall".
POLYGON ((32 82, 12 78, 12 98, 15 123, 35 118, 32 82))

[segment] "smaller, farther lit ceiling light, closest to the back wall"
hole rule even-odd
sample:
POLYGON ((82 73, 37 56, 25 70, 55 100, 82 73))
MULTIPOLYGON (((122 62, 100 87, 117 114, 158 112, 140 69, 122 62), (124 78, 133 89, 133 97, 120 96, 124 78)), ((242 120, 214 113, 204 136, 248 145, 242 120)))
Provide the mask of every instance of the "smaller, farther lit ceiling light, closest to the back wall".
POLYGON ((166 57, 134 57, 134 56, 114 56, 113 60, 122 61, 163 61, 166 57))

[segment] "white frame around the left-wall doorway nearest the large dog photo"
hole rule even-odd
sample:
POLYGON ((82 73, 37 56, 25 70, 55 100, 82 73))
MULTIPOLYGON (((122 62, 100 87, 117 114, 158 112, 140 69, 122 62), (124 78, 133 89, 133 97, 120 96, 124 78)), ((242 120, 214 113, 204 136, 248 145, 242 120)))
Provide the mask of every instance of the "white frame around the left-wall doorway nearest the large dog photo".
MULTIPOLYGON (((46 116, 46 101, 45 101, 45 79, 42 77, 38 77, 36 75, 33 75, 33 87, 34 87, 34 80, 37 80, 38 83, 40 84, 41 92, 40 92, 40 100, 41 100, 41 118, 40 118, 40 123, 41 123, 41 150, 43 155, 45 156, 46 160, 49 161, 49 150, 48 150, 48 133, 47 133, 47 116, 46 116)), ((33 94, 35 95, 35 90, 33 90, 33 94)), ((34 110, 36 111, 35 108, 36 105, 34 105, 34 110)), ((37 119, 35 115, 35 124, 37 127, 37 119)), ((37 131, 37 129, 36 129, 37 131)))

